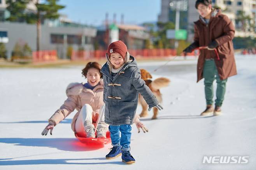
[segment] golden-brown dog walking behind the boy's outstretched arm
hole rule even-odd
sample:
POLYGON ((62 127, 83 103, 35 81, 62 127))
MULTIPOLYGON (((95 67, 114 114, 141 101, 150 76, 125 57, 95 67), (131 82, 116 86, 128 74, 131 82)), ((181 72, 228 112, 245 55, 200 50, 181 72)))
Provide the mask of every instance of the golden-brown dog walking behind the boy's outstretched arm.
MULTIPOLYGON (((160 77, 155 80, 152 79, 152 75, 145 69, 140 69, 141 78, 146 82, 146 85, 151 89, 154 93, 158 101, 161 103, 163 101, 162 94, 160 93, 160 89, 163 87, 167 87, 170 83, 170 80, 165 77, 160 77)), ((139 104, 142 106, 142 112, 140 113, 140 117, 148 116, 148 105, 142 95, 139 95, 139 104)), ((154 115, 152 119, 156 119, 158 115, 158 109, 156 107, 153 108, 154 115)))

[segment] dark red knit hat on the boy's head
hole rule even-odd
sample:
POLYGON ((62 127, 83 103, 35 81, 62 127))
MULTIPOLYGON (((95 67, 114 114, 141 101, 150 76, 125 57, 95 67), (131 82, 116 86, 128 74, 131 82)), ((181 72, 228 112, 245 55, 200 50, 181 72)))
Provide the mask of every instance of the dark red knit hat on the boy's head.
POLYGON ((119 40, 109 44, 109 47, 107 48, 107 55, 110 57, 111 53, 119 53, 125 60, 125 54, 127 51, 126 45, 123 43, 123 41, 119 40))

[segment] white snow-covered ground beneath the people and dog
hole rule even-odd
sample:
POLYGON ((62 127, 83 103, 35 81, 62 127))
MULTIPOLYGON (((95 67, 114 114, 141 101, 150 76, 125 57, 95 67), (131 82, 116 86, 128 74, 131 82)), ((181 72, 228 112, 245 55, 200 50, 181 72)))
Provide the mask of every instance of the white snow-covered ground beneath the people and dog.
MULTIPOLYGON (((203 81, 196 83, 196 61, 140 63, 153 78, 168 77, 161 89, 158 119, 143 118, 149 133, 133 125, 131 152, 106 160, 110 144, 81 144, 70 128, 74 113, 41 136, 47 119, 64 102, 70 82, 85 81, 82 67, 0 69, 0 169, 133 169, 133 170, 254 170, 256 167, 256 56, 237 56, 238 75, 230 77, 223 115, 202 117, 203 81), (247 164, 203 164, 204 156, 249 156, 247 164)), ((216 87, 216 84, 215 84, 216 87)), ((140 113, 141 107, 137 112, 140 113)))

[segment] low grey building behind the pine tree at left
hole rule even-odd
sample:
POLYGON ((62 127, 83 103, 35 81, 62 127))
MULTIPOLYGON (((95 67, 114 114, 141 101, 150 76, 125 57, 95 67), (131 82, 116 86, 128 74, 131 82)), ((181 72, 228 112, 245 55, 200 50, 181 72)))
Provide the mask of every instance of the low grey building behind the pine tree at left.
MULTIPOLYGON (((4 39, 7 58, 11 58, 12 50, 17 42, 28 43, 32 51, 35 51, 36 25, 5 21, 8 18, 6 7, 5 0, 0 0, 0 40, 4 39)), ((35 10, 35 5, 32 2, 27 5, 26 12, 35 10)), ((41 26, 40 50, 56 50, 59 58, 67 58, 69 47, 74 50, 94 50, 93 42, 96 33, 96 28, 74 23, 67 16, 61 16, 54 21, 44 20, 41 26)))

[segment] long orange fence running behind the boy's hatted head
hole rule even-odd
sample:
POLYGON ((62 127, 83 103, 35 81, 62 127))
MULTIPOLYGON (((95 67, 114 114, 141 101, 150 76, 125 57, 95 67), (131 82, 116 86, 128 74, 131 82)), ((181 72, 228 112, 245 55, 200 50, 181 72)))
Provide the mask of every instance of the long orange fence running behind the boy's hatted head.
MULTIPOLYGON (((136 57, 165 57, 175 56, 175 49, 128 49, 130 55, 136 57)), ((90 58, 105 58, 106 50, 72 51, 71 60, 86 60, 90 58)))

